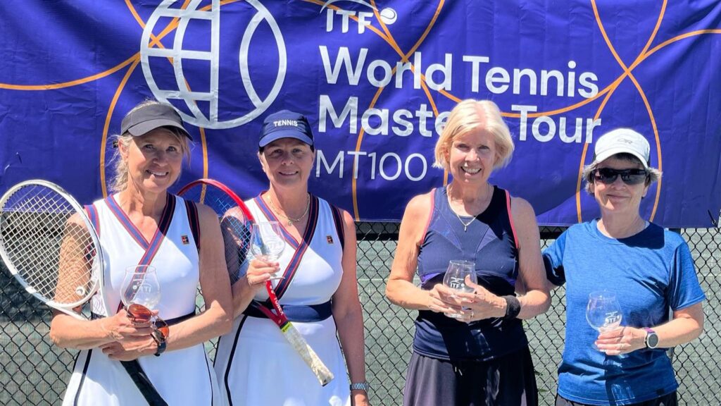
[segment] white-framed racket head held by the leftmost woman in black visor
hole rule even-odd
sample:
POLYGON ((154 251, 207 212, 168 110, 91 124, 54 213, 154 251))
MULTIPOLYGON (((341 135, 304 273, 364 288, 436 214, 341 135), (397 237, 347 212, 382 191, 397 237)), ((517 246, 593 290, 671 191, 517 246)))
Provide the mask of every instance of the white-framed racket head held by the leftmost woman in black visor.
POLYGON ((98 291, 109 308, 97 233, 81 205, 54 183, 25 181, 0 198, 0 256, 27 293, 51 308, 87 320, 87 312, 74 309, 98 291))

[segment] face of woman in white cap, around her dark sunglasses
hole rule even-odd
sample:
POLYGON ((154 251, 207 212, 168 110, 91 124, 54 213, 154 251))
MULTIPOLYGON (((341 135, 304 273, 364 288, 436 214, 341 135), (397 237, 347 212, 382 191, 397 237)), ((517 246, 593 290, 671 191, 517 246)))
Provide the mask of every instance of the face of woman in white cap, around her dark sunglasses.
MULTIPOLYGON (((615 155, 598 164, 598 169, 611 168, 617 170, 643 169, 641 163, 634 160, 619 159, 615 155)), ((601 207, 601 215, 616 213, 639 213, 641 198, 648 192, 648 182, 628 185, 617 176, 613 183, 606 184, 594 178, 590 189, 601 207)))

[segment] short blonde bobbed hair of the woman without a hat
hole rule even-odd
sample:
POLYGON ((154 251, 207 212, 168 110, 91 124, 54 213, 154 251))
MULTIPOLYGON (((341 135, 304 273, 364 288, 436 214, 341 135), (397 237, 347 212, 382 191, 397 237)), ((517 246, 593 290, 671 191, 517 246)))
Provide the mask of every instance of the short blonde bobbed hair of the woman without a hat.
POLYGON ((441 137, 435 143, 435 168, 448 169, 446 153, 457 137, 462 137, 477 129, 485 129, 493 134, 496 158, 493 168, 508 165, 515 146, 510 130, 500 116, 498 106, 490 100, 463 100, 451 110, 441 137))

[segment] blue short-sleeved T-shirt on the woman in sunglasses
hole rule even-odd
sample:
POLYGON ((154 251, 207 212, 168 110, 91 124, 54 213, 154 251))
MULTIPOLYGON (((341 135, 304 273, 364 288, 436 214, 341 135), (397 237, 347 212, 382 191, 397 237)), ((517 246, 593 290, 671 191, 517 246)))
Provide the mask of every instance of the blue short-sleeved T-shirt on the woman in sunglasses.
POLYGON ((588 405, 628 405, 676 390, 671 360, 663 349, 637 350, 624 358, 593 348, 598 332, 585 308, 595 290, 616 294, 622 326, 654 327, 670 311, 702 302, 689 246, 676 233, 651 223, 629 238, 598 230, 597 220, 573 225, 544 251, 548 279, 566 285, 566 335, 558 393, 588 405))

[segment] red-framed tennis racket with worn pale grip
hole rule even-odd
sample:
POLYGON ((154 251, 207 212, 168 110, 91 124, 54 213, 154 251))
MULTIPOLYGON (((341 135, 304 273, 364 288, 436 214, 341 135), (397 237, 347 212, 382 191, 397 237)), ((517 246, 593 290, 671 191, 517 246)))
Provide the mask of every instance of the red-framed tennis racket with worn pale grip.
MULTIPOLYGON (((221 220, 221 231, 225 241, 226 262, 231 277, 231 282, 239 279, 239 271, 244 262, 247 261, 247 253, 250 246, 250 234, 252 224, 255 221, 250 211, 228 186, 213 179, 199 179, 184 186, 179 196, 193 202, 202 203, 211 207, 218 214, 221 220)), ((270 281, 265 282, 270 303, 273 304, 275 313, 262 303, 254 301, 252 306, 262 311, 268 319, 278 325, 283 337, 291 344, 293 350, 303 358, 311 368, 322 386, 327 385, 333 379, 333 373, 318 357, 313 348, 303 338, 300 332, 293 326, 288 317, 283 313, 283 308, 278 303, 278 297, 273 291, 270 281)))

